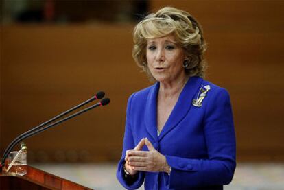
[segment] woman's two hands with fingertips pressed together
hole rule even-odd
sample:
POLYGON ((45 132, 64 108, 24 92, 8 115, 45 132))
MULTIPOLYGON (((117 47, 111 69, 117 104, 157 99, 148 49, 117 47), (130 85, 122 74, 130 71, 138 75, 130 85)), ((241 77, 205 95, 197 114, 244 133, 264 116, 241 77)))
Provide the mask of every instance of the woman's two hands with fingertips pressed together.
POLYGON ((165 156, 147 138, 141 139, 134 149, 127 150, 125 160, 125 167, 130 175, 137 174, 138 171, 170 172, 165 156), (142 151, 144 145, 149 151, 142 151))

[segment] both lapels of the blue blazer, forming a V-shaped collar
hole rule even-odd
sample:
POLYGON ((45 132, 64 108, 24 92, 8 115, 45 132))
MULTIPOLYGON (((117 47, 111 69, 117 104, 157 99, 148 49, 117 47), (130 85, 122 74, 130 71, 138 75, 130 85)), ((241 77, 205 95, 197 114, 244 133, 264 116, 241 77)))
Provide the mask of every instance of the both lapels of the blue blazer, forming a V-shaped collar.
POLYGON ((147 97, 147 103, 145 106, 145 125, 147 131, 150 133, 154 141, 161 141, 163 136, 171 131, 184 117, 191 108, 191 102, 198 93, 200 85, 203 79, 200 77, 191 77, 185 84, 185 87, 178 97, 178 102, 171 111, 169 118, 167 119, 161 134, 157 134, 157 95, 158 89, 160 88, 160 83, 154 84, 153 88, 150 89, 150 93, 147 97))

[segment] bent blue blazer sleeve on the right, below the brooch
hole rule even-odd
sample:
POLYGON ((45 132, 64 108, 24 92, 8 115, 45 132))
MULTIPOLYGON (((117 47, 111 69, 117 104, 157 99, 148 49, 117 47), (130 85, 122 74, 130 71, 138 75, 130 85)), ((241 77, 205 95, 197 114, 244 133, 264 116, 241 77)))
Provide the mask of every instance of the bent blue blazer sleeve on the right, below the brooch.
POLYGON ((235 131, 230 96, 217 88, 209 98, 204 117, 208 159, 167 156, 171 173, 163 173, 167 188, 227 185, 235 171, 235 131))

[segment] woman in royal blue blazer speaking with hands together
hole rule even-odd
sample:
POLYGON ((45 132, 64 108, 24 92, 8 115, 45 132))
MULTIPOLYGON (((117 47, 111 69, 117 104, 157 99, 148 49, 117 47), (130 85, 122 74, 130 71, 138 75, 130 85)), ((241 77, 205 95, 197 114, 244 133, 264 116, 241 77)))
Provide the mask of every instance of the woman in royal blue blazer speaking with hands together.
POLYGON ((134 28, 133 57, 156 81, 128 99, 117 178, 126 189, 223 189, 235 171, 230 97, 204 76, 189 13, 162 8, 134 28))

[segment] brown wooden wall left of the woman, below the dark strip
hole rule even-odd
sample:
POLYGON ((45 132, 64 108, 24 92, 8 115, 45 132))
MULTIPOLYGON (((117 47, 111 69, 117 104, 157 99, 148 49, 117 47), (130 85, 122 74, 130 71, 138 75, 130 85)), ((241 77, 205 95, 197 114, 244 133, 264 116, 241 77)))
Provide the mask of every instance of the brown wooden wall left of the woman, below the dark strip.
POLYGON ((1 129, 5 135, 1 148, 16 134, 103 90, 111 99, 109 106, 34 136, 27 144, 43 157, 54 150, 84 150, 92 159, 100 160, 104 154, 110 157, 104 159, 117 158, 127 97, 147 85, 132 61, 132 27, 4 27, 1 129))

